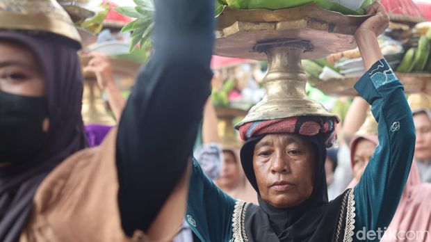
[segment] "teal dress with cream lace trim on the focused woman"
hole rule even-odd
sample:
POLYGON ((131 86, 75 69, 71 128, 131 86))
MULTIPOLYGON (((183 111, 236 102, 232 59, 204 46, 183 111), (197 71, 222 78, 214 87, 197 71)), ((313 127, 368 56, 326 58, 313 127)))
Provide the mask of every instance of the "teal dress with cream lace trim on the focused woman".
MULTIPOLYGON (((386 61, 377 61, 359 79, 355 89, 372 106, 378 122, 379 145, 357 186, 345 192, 340 241, 380 241, 409 175, 414 154, 414 124, 402 84, 386 61)), ((197 161, 193 161, 186 221, 202 241, 246 241, 236 236, 236 229, 247 230, 244 224, 238 224, 241 220, 238 214, 246 216, 241 213, 246 206, 247 203, 223 193, 204 175, 197 161)))

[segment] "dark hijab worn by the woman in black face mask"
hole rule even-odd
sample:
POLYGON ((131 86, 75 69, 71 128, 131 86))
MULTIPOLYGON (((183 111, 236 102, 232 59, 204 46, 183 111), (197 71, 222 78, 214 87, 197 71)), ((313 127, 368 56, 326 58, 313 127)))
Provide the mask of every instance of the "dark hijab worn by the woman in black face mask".
POLYGON ((81 103, 83 79, 79 43, 51 33, 0 31, 0 40, 19 42, 33 52, 44 76, 48 141, 38 156, 0 169, 0 241, 17 241, 26 225, 33 196, 51 170, 86 147, 81 103))

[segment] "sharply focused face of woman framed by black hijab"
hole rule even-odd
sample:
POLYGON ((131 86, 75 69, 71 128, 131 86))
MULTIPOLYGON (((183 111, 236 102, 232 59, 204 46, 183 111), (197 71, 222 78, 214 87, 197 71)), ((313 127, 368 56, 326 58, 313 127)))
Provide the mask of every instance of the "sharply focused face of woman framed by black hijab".
POLYGON ((254 146, 261 198, 278 208, 301 204, 313 191, 314 148, 296 134, 268 134, 254 146))

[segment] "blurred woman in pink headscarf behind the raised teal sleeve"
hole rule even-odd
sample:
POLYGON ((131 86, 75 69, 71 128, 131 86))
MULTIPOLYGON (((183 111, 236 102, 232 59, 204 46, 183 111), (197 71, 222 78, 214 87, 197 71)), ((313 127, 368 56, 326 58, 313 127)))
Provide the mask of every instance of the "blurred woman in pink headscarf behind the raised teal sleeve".
MULTIPOLYGON (((349 115, 363 115, 360 108, 352 106, 349 115)), ((365 112, 364 112, 365 113, 365 112)), ((352 118, 352 117, 350 117, 352 118)), ((356 186, 378 145, 377 122, 368 115, 350 143, 351 166, 354 179, 349 188, 356 186)), ((402 191, 398 209, 382 237, 382 242, 426 242, 431 234, 431 184, 423 183, 419 177, 416 161, 413 161, 409 177, 402 191)))

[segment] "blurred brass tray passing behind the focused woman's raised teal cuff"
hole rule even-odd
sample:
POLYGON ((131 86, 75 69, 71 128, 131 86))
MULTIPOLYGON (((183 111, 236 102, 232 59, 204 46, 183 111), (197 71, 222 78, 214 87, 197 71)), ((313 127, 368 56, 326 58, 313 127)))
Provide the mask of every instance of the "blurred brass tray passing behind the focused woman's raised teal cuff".
MULTIPOLYGON (((406 93, 423 92, 431 95, 431 73, 396 73, 396 75, 404 85, 406 93)), ((357 96, 358 93, 353 86, 360 77, 329 79, 327 81, 319 81, 312 86, 325 92, 326 95, 357 96)))

